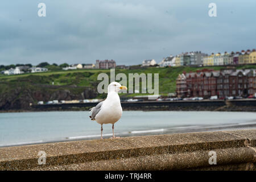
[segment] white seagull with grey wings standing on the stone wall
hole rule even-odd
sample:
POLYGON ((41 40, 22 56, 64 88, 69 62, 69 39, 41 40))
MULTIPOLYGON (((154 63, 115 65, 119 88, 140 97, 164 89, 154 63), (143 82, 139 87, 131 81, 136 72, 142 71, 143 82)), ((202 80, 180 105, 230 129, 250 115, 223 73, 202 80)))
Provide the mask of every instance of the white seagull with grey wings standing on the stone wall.
POLYGON ((111 82, 108 86, 108 96, 106 97, 106 100, 98 103, 95 107, 90 109, 90 119, 95 120, 101 125, 101 139, 103 139, 103 124, 112 124, 112 138, 117 138, 114 135, 114 123, 121 118, 123 111, 120 98, 118 96, 119 90, 127 90, 127 87, 122 86, 118 82, 111 82))

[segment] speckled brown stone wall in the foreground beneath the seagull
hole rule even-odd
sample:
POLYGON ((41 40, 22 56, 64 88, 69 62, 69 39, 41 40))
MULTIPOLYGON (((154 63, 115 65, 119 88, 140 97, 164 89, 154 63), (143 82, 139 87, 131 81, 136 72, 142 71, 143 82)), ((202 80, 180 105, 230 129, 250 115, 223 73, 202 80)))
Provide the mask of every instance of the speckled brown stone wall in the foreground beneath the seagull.
POLYGON ((256 130, 0 148, 1 170, 255 170, 256 130))

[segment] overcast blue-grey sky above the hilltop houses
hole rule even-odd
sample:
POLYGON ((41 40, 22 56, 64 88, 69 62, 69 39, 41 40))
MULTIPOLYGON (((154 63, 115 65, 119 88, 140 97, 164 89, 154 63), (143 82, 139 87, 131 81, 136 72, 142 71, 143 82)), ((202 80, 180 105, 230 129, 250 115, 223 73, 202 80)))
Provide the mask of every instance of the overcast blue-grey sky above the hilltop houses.
POLYGON ((254 0, 5 0, 0 3, 0 65, 113 59, 159 62, 181 52, 256 48, 254 0), (38 4, 46 4, 46 17, 38 4), (209 17, 208 5, 217 5, 209 17))

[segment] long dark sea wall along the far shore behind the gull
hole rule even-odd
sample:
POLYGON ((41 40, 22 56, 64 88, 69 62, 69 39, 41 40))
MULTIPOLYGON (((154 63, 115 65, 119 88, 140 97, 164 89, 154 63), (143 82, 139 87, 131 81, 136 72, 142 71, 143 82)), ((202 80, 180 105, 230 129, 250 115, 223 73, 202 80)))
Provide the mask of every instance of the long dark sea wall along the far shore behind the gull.
MULTIPOLYGON (((32 105, 34 111, 88 110, 97 103, 32 105)), ((208 111, 256 111, 256 100, 202 100, 202 101, 143 101, 122 102, 123 110, 208 110, 208 111)))

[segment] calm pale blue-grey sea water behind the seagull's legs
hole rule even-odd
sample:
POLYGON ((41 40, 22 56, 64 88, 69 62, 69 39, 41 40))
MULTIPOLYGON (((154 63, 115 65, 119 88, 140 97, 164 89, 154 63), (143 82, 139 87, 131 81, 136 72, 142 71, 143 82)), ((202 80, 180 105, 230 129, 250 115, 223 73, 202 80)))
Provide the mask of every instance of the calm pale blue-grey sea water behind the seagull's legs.
MULTIPOLYGON (((104 138, 112 125, 104 125, 104 138)), ((123 111, 115 123, 116 136, 193 131, 255 129, 256 113, 216 111, 123 111)), ((100 125, 89 111, 0 113, 0 147, 100 138, 100 125)))

